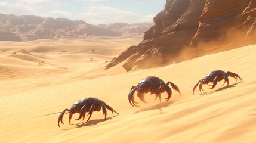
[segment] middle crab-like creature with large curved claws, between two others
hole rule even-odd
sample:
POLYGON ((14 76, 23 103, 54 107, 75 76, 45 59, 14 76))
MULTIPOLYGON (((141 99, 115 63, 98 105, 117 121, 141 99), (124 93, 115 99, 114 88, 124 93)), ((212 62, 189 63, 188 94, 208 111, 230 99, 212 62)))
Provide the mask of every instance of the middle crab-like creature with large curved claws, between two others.
MULTIPOLYGON (((144 94, 147 94, 148 92, 150 92, 150 94, 156 94, 156 98, 159 97, 159 100, 161 102, 160 93, 166 91, 168 93, 168 97, 165 99, 166 99, 166 101, 168 101, 172 95, 171 88, 169 88, 169 86, 168 86, 169 84, 172 86, 172 88, 174 90, 176 90, 180 93, 180 89, 178 89, 178 86, 174 85, 174 83, 172 83, 172 82, 165 83, 162 79, 159 79, 158 77, 148 76, 148 77, 140 80, 140 82, 138 83, 137 86, 131 87, 131 90, 128 95, 129 103, 132 106, 134 106, 134 105, 138 106, 135 104, 135 103, 138 104, 138 102, 135 102, 135 100, 134 100, 135 91, 137 91, 137 97, 140 98, 140 100, 145 103, 146 103, 146 101, 144 99, 144 94)), ((180 96, 181 96, 181 94, 180 94, 180 96)), ((156 98, 155 98, 155 100, 156 100, 156 98)))

